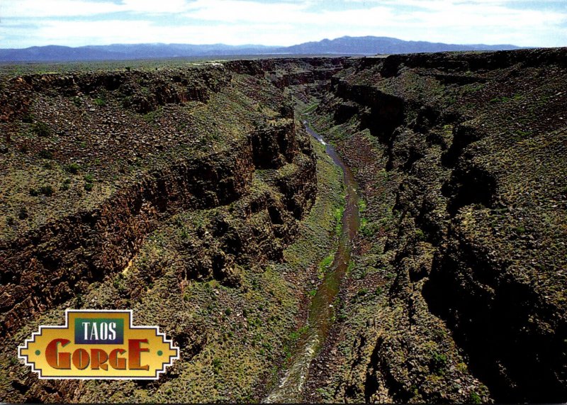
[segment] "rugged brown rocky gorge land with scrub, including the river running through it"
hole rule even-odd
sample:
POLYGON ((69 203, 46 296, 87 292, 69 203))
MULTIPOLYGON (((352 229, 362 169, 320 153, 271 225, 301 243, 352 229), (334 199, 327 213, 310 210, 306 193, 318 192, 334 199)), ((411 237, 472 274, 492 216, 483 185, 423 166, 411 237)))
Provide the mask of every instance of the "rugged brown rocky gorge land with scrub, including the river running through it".
POLYGON ((0 401, 567 401, 567 48, 123 65, 0 74, 0 401), (38 379, 65 309, 180 358, 38 379))

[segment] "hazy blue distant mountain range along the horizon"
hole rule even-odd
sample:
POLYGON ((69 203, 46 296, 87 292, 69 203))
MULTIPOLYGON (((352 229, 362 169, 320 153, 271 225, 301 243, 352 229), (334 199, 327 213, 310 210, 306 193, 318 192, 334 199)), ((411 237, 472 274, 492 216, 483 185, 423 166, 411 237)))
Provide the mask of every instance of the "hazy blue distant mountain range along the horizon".
POLYGON ((376 55, 455 50, 512 50, 515 45, 454 45, 425 41, 405 41, 388 37, 349 37, 320 40, 288 47, 264 45, 187 45, 116 44, 34 46, 25 49, 0 49, 0 62, 70 62, 89 60, 135 60, 170 57, 211 57, 229 55, 376 55))

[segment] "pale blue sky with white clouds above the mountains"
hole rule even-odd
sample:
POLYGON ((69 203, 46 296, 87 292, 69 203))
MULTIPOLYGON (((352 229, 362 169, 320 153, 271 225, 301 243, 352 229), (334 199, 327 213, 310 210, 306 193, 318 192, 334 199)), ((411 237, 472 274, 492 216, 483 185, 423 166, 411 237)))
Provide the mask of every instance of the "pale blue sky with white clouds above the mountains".
POLYGON ((343 35, 567 46, 567 0, 0 0, 0 48, 287 46, 343 35))

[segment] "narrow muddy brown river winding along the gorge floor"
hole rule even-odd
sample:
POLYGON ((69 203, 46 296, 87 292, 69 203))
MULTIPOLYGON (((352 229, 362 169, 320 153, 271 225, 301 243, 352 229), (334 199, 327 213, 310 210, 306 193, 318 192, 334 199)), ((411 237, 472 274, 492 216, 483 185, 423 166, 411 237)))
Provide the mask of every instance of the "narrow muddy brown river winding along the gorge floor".
POLYGON ((264 402, 267 403, 293 403, 301 401, 311 361, 313 361, 315 355, 322 348, 327 335, 329 335, 334 318, 333 315, 335 314, 333 304, 339 292, 340 282, 347 272, 351 257, 352 240, 357 234, 360 225, 358 187, 352 172, 344 165, 344 162, 337 155, 332 145, 327 144, 322 136, 313 131, 307 123, 305 123, 305 128, 310 135, 322 143, 322 145, 325 145, 327 155, 331 157, 335 165, 341 168, 344 189, 346 191, 346 204, 342 215, 342 231, 339 235, 339 243, 337 244, 334 260, 309 306, 308 329, 298 341, 286 374, 283 375, 279 384, 274 387, 269 396, 264 399, 264 402))

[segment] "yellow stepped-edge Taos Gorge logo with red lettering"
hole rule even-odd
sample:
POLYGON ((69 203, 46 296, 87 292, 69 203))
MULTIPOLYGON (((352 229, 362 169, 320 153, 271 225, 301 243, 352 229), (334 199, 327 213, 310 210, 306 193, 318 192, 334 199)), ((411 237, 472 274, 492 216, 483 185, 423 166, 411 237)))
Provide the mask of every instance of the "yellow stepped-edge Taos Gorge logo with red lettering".
POLYGON ((18 357, 43 379, 157 379, 179 348, 157 326, 133 326, 132 311, 65 311, 64 326, 40 326, 18 357))

